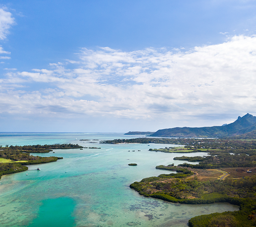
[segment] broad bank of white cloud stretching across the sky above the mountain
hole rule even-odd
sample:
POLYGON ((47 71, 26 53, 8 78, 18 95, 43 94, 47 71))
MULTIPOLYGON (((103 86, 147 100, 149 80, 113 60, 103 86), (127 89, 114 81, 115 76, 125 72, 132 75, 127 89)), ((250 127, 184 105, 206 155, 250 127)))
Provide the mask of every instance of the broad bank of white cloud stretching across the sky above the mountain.
POLYGON ((9 72, 0 104, 12 105, 0 112, 158 120, 256 113, 255 53, 256 37, 242 35, 186 52, 84 48, 76 69, 9 72))

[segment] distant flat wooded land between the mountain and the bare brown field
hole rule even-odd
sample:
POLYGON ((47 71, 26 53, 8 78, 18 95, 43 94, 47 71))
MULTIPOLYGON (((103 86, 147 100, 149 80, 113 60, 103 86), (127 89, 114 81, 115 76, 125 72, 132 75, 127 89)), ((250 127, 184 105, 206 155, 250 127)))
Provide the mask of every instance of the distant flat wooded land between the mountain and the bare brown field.
POLYGON ((215 169, 224 167, 256 167, 256 141, 224 140, 224 139, 195 139, 195 138, 135 138, 101 141, 102 143, 164 143, 184 145, 184 148, 165 147, 149 149, 159 152, 207 152, 205 157, 176 157, 176 160, 199 161, 198 165, 180 164, 182 167, 197 169, 215 169), (231 155, 233 153, 234 155, 231 155))

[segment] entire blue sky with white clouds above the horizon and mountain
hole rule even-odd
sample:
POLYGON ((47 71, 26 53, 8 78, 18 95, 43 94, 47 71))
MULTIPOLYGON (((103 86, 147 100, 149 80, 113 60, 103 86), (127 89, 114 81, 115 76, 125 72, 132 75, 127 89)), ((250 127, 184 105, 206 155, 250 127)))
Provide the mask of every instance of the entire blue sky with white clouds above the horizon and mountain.
POLYGON ((2 0, 0 132, 256 115, 256 0, 2 0))

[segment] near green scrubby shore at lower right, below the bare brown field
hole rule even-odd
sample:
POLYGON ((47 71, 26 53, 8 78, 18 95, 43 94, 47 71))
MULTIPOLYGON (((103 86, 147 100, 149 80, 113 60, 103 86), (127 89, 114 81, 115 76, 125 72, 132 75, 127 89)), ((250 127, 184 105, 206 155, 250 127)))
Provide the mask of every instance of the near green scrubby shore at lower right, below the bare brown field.
MULTIPOLYGON (((177 167, 172 167, 174 170, 177 167)), ((189 170, 184 170, 184 173, 189 170)), ((175 173, 172 175, 175 175, 175 173)), ((187 174, 189 175, 189 174, 187 174)), ((240 179, 227 178, 220 181, 198 181, 192 178, 151 177, 134 182, 131 188, 140 195, 182 204, 209 204, 228 202, 239 205, 235 212, 214 213, 189 220, 190 227, 236 226, 249 227, 256 224, 256 176, 240 179), (167 180, 166 180, 167 179, 167 180), (234 225, 229 225, 230 223, 234 225), (219 224, 219 225, 218 225, 219 224)))

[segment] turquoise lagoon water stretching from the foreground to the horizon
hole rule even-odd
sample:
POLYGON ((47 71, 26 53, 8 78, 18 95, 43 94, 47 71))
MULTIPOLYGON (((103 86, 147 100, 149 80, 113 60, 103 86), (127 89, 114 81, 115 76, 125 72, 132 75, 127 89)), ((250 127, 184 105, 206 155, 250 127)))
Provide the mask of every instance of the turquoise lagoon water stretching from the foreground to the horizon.
POLYGON ((99 144, 99 141, 93 141, 114 138, 134 136, 103 133, 2 134, 0 144, 4 146, 73 143, 101 149, 56 149, 54 154, 49 152, 41 156, 55 155, 64 159, 28 166, 30 170, 39 167, 41 171, 3 176, 0 180, 0 226, 185 227, 193 216, 238 210, 237 206, 230 204, 172 204, 140 196, 129 188, 131 183, 168 172, 156 170, 155 167, 160 164, 179 164, 182 161, 173 158, 183 154, 148 151, 149 148, 170 147, 169 144, 148 146, 99 144), (138 165, 128 166, 129 163, 138 165))

